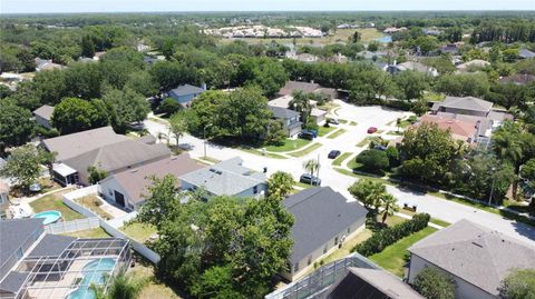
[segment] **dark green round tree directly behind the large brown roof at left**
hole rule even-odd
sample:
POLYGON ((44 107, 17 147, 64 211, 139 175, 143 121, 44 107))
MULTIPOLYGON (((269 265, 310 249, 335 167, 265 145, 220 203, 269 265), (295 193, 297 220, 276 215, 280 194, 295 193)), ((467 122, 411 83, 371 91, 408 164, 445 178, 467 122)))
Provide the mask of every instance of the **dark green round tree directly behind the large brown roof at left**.
POLYGON ((64 99, 54 108, 51 122, 61 134, 107 126, 109 117, 100 100, 64 99))

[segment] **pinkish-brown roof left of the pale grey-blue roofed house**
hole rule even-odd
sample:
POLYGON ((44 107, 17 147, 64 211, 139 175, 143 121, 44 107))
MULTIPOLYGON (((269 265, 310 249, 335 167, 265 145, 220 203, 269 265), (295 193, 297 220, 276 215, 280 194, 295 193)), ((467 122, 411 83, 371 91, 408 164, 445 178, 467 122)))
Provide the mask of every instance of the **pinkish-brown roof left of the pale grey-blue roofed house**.
POLYGON ((143 201, 143 195, 147 195, 147 187, 150 185, 152 176, 157 178, 163 178, 166 175, 179 177, 197 169, 201 169, 201 166, 191 159, 189 155, 183 153, 115 173, 104 179, 100 183, 116 180, 128 195, 130 201, 137 203, 143 201))

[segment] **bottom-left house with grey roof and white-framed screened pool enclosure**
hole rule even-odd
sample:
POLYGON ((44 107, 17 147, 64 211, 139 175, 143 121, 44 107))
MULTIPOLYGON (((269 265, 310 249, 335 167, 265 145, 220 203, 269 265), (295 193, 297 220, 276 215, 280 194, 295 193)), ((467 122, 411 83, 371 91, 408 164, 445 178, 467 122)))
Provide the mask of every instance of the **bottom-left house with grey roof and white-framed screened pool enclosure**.
POLYGON ((128 240, 49 235, 42 221, 0 221, 0 298, 94 298, 89 283, 129 266, 128 240))

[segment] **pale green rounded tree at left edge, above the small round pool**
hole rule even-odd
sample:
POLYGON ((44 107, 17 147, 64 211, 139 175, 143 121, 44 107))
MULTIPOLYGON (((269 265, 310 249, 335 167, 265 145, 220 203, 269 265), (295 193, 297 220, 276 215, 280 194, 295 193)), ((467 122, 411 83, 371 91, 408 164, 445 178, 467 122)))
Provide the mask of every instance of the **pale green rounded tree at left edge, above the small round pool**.
POLYGON ((0 176, 13 179, 23 189, 28 189, 41 175, 41 157, 32 144, 13 148, 6 166, 0 169, 0 176))

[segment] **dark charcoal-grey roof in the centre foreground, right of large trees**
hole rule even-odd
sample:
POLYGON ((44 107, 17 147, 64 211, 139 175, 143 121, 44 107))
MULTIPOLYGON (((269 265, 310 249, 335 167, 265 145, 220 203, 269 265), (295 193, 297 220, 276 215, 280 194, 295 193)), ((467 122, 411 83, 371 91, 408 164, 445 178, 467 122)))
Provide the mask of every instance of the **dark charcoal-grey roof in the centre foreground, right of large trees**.
MULTIPOLYGON (((366 219, 368 210, 330 187, 305 189, 284 199, 284 207, 294 216, 292 227, 292 265, 344 232, 349 226, 366 219)), ((340 236, 341 237, 341 236, 340 236)))

